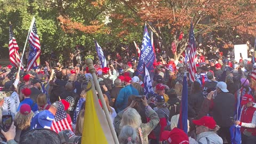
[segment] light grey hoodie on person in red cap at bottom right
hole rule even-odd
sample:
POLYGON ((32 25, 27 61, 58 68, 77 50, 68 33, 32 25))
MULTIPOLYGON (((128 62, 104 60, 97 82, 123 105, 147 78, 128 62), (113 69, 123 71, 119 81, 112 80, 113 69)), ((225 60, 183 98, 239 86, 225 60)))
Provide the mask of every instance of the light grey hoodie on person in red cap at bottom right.
POLYGON ((196 141, 199 143, 204 143, 204 144, 208 144, 207 143, 207 139, 209 140, 209 144, 222 144, 223 140, 219 137, 219 135, 213 131, 209 131, 209 132, 202 132, 200 134, 197 135, 196 141))

